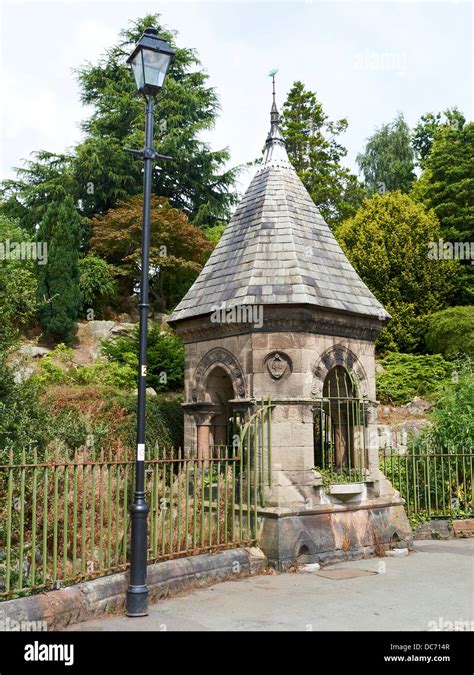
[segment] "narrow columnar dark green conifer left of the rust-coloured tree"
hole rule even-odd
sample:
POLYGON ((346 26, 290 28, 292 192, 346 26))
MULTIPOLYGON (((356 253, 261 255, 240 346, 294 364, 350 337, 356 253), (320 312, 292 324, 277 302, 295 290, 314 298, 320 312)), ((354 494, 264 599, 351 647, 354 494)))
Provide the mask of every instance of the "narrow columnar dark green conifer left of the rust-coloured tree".
POLYGON ((38 240, 48 244, 48 261, 38 266, 39 317, 45 333, 58 342, 73 338, 80 307, 80 223, 72 198, 66 197, 48 207, 38 231, 38 240))

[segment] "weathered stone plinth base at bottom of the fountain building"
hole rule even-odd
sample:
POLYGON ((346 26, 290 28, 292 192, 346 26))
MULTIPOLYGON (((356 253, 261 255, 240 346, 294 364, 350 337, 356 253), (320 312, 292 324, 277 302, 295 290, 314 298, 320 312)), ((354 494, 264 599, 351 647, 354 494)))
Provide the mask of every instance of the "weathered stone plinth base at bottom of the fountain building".
POLYGON ((331 563, 412 547, 412 531, 400 501, 322 505, 311 511, 259 513, 259 543, 268 561, 285 570, 299 563, 331 563))

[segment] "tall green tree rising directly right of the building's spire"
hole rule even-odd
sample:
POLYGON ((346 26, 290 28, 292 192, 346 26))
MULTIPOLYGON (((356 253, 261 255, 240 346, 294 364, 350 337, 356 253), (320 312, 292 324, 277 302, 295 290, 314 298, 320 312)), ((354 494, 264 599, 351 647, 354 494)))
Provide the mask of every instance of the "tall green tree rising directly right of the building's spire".
POLYGON ((331 122, 315 92, 295 82, 283 104, 281 130, 288 156, 311 198, 330 226, 354 215, 364 191, 341 164, 347 150, 337 138, 347 120, 331 122))

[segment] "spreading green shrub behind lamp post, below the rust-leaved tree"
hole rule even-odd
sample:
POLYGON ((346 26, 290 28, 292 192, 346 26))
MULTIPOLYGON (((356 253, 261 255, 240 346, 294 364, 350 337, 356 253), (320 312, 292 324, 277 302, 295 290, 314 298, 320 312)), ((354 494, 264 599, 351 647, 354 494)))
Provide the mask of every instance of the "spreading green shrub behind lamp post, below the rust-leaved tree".
MULTIPOLYGON (((138 367, 138 327, 131 336, 121 336, 102 343, 102 352, 110 360, 129 366, 136 372, 138 367)), ((179 389, 184 380, 184 347, 181 339, 158 324, 148 333, 147 381, 155 391, 179 389)))

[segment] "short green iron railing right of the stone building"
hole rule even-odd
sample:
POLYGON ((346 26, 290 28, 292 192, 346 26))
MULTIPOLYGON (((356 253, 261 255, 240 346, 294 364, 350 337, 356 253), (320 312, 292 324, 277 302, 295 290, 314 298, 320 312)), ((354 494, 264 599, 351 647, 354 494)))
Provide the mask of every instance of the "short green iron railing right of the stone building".
POLYGON ((380 451, 380 469, 400 492, 408 515, 466 517, 474 511, 472 452, 394 448, 380 451))

